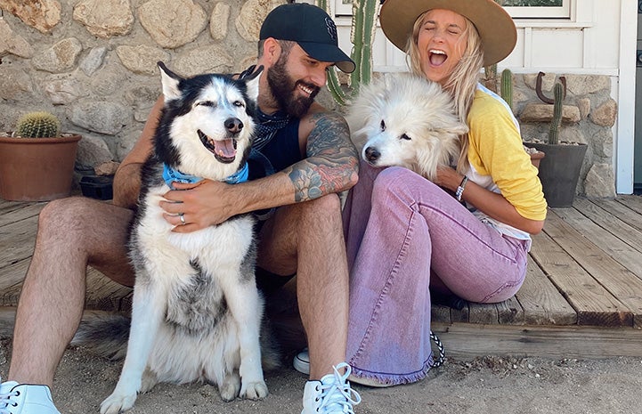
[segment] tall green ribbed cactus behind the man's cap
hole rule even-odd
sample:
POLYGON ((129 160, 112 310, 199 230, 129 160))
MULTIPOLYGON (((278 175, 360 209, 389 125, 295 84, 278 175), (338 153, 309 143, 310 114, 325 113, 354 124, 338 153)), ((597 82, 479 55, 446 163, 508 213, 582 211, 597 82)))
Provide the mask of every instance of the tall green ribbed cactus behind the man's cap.
MULTIPOLYGON (((329 0, 317 0, 317 5, 326 12, 329 10, 329 0)), ((372 42, 375 38, 375 28, 378 17, 378 0, 353 0, 352 29, 350 41, 353 49, 350 57, 356 65, 350 74, 349 92, 341 87, 337 70, 332 69, 328 75, 328 88, 332 97, 339 105, 345 105, 359 93, 360 85, 370 84, 372 78, 372 42)))

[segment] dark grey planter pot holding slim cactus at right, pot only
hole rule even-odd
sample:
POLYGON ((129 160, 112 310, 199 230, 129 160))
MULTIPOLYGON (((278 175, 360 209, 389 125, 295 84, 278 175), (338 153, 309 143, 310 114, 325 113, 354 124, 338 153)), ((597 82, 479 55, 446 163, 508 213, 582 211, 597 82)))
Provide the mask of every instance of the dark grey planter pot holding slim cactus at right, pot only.
POLYGON ((581 164, 588 146, 524 142, 546 154, 540 162, 540 182, 549 207, 572 207, 575 189, 580 178, 581 164))

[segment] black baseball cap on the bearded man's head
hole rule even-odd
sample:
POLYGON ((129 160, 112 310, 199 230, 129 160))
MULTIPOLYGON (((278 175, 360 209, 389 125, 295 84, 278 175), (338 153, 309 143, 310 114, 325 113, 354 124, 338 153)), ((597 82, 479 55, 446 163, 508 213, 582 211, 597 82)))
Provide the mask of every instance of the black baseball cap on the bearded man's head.
POLYGON ((260 39, 273 37, 297 42, 317 61, 331 61, 345 73, 354 71, 354 61, 338 47, 337 25, 323 9, 307 3, 281 4, 268 13, 260 39))

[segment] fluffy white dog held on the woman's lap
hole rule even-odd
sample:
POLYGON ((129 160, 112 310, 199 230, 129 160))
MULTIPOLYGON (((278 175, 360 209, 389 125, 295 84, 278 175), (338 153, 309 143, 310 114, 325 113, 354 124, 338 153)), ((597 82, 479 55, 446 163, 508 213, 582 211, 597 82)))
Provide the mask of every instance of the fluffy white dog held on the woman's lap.
POLYGON ((428 180, 459 157, 468 127, 440 85, 395 74, 364 85, 346 116, 354 144, 371 166, 405 166, 428 180))

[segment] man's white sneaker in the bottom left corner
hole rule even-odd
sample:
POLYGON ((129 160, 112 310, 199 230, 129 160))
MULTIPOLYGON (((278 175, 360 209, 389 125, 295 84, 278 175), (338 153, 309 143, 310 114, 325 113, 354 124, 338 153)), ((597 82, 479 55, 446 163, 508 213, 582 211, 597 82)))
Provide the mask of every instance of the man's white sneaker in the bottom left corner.
POLYGON ((0 414, 61 414, 48 386, 7 381, 0 384, 0 414))

